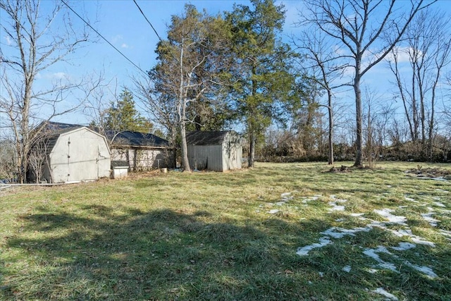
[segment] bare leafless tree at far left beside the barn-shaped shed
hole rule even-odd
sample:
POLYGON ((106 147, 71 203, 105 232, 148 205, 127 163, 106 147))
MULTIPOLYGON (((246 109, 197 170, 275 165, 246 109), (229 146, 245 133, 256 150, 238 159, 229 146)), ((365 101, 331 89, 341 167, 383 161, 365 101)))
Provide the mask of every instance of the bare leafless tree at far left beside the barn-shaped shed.
POLYGON ((50 87, 38 87, 35 81, 87 41, 83 30, 72 27, 61 2, 55 2, 48 15, 41 5, 49 8, 49 3, 39 0, 0 1, 1 28, 8 39, 0 51, 5 69, 1 75, 0 114, 13 132, 20 183, 25 180, 30 146, 40 134, 32 128, 39 121, 75 110, 65 108, 63 102, 68 90, 80 87, 80 82, 70 83, 68 78, 61 78, 50 87))

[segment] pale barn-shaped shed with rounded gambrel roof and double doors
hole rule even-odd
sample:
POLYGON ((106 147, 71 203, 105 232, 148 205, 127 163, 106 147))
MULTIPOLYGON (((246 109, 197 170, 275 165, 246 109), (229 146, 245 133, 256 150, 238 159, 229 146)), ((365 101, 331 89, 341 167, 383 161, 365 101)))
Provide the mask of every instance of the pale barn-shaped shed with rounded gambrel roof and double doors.
POLYGON ((109 177, 111 153, 106 137, 85 126, 49 123, 41 180, 68 183, 109 177))

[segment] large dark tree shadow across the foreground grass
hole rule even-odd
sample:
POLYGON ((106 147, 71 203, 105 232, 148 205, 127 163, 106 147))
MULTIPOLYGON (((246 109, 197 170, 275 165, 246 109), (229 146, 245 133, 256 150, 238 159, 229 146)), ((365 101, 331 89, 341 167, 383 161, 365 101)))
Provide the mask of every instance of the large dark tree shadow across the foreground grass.
MULTIPOLYGON (((21 216, 20 233, 7 240, 13 259, 1 271, 0 299, 373 300, 366 288, 394 275, 358 281, 364 272, 347 274, 337 263, 361 250, 344 254, 341 245, 325 247, 326 256, 298 257, 302 233, 330 228, 322 220, 271 217, 240 225, 214 221, 209 211, 123 208, 118 214, 97 205, 77 216, 41 210, 21 216)), ((445 290, 429 279, 415 283, 437 288, 437 294, 445 290)), ((404 294, 410 299, 419 293, 404 294)))

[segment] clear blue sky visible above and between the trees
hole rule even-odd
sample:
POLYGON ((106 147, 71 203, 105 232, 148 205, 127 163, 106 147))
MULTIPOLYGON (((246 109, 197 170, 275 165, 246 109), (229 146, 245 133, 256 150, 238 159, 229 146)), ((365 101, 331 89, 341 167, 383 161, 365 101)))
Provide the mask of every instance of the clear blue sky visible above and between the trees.
MULTIPOLYGON (((249 1, 203 0, 187 2, 180 0, 137 0, 137 4, 142 8, 156 32, 163 39, 166 38, 166 25, 170 23, 171 16, 182 13, 185 3, 194 4, 199 11, 205 8, 210 14, 230 11, 233 9, 234 3, 250 4, 249 1)), ((288 36, 299 30, 292 24, 296 22, 298 11, 302 9, 303 4, 302 1, 279 1, 278 4, 280 3, 283 3, 287 10, 284 35, 288 36)), ((44 11, 48 10, 53 4, 53 1, 44 0, 42 1, 42 8, 44 11)), ((154 50, 159 39, 132 0, 72 0, 68 1, 68 4, 80 13, 83 18, 89 20, 89 23, 101 35, 142 70, 149 70, 155 65, 154 50)), ((451 10, 450 0, 441 0, 435 5, 445 11, 451 10)), ((71 18, 75 27, 82 27, 82 20, 72 13, 71 18)), ((3 33, 0 32, 0 35, 3 45, 7 41, 3 33)), ((124 59, 121 54, 118 54, 103 39, 97 37, 95 32, 89 31, 89 35, 92 39, 97 39, 97 42, 89 42, 82 49, 78 49, 70 57, 70 64, 58 64, 45 70, 39 75, 37 84, 44 85, 46 81, 49 82, 63 75, 72 79, 82 78, 103 70, 106 81, 111 80, 110 92, 113 92, 116 86, 119 91, 123 86, 132 88, 131 77, 140 75, 142 71, 124 59)), ((377 83, 377 85, 374 85, 375 89, 385 92, 387 94, 385 97, 389 97, 386 92, 390 89, 393 90, 389 87, 389 72, 386 66, 381 64, 371 70, 371 73, 366 75, 365 79, 368 83, 377 83)), ((342 97, 347 98, 346 95, 342 97)), ((106 97, 105 100, 113 100, 113 97, 106 97)), ((351 105, 349 110, 351 113, 353 113, 352 108, 353 106, 351 105)), ((86 124, 89 123, 90 118, 90 116, 85 116, 82 113, 70 113, 70 115, 59 118, 56 121, 86 124)))

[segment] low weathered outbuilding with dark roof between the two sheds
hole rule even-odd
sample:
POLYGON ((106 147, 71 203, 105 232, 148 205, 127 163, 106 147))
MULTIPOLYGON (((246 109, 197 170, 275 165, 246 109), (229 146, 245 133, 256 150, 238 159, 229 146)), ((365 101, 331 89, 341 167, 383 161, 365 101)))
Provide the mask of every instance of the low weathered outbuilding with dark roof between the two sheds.
POLYGON ((111 159, 128 162, 129 171, 143 171, 173 166, 174 156, 168 140, 150 133, 124 130, 106 131, 111 159))

